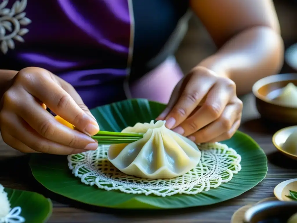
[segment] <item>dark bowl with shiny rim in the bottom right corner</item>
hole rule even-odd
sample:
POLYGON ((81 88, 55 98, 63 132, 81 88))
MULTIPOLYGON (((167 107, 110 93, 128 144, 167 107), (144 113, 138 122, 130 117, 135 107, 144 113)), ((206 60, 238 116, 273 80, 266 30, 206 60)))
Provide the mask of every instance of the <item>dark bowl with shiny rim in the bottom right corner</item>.
POLYGON ((244 223, 282 222, 296 213, 297 202, 268 201, 252 206, 244 214, 244 223))

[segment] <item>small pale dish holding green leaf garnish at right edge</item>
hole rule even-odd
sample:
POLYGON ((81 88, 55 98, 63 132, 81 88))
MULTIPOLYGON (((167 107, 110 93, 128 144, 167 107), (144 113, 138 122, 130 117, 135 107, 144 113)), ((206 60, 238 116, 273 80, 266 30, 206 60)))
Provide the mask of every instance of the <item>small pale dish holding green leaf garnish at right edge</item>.
MULTIPOLYGON (((297 178, 290 179, 279 183, 273 190, 274 196, 280 201, 292 201, 286 197, 290 195, 291 191, 297 191, 297 178)), ((296 209, 297 212, 297 209, 296 209)))

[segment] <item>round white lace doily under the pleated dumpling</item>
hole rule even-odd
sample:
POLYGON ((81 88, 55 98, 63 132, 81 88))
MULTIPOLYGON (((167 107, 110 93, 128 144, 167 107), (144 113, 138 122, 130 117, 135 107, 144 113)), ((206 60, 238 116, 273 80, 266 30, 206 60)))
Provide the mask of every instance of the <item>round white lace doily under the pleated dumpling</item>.
POLYGON ((100 145, 95 151, 68 156, 68 166, 81 182, 99 189, 119 190, 127 194, 198 194, 230 181, 241 170, 241 156, 225 144, 198 145, 199 164, 186 174, 172 179, 143 179, 126 175, 116 169, 107 158, 109 145, 100 145))

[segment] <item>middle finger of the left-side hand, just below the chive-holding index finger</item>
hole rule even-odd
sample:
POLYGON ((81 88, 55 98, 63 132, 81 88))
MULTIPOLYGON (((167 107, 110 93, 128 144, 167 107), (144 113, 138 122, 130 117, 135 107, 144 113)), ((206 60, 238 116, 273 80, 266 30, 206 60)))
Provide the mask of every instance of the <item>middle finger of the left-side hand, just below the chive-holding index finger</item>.
POLYGON ((4 95, 5 99, 10 100, 7 109, 15 111, 18 116, 22 117, 42 137, 77 149, 97 149, 98 144, 94 139, 59 123, 24 89, 12 88, 8 90, 4 95), (18 95, 22 95, 23 97, 20 98, 18 95))

